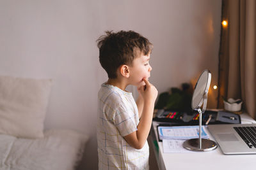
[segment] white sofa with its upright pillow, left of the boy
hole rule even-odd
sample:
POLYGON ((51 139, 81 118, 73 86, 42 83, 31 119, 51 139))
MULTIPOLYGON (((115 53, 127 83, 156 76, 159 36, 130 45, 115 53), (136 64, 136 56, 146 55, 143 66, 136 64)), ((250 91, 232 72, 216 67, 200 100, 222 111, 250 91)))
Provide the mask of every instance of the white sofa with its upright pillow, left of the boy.
POLYGON ((0 170, 74 170, 88 136, 44 131, 51 80, 0 76, 0 170))

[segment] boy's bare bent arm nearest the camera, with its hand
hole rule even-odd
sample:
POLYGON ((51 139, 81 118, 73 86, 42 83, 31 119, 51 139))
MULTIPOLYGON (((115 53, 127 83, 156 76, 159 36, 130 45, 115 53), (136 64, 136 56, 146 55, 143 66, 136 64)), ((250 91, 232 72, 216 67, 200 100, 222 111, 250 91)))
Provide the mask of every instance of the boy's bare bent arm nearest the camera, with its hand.
POLYGON ((133 148, 141 149, 148 138, 148 133, 152 124, 152 117, 154 112, 154 103, 157 97, 157 90, 154 85, 150 84, 147 80, 146 89, 141 89, 141 94, 144 99, 143 111, 140 118, 140 123, 138 124, 137 131, 124 136, 125 141, 129 143, 133 148))

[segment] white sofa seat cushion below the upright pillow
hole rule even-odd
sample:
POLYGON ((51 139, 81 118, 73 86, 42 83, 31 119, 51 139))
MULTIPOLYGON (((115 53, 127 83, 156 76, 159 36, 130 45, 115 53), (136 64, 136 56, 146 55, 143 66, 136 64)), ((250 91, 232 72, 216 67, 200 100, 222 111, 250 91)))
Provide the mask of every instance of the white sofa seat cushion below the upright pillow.
POLYGON ((78 166, 87 136, 70 130, 45 131, 44 138, 0 134, 1 170, 73 170, 78 166))

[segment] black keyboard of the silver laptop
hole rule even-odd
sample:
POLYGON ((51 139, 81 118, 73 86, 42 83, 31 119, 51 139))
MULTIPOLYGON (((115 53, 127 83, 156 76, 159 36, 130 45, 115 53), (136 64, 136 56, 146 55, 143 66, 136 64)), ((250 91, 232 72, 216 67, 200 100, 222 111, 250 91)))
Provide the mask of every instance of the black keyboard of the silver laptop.
POLYGON ((234 127, 234 129, 249 148, 256 148, 256 127, 234 127))

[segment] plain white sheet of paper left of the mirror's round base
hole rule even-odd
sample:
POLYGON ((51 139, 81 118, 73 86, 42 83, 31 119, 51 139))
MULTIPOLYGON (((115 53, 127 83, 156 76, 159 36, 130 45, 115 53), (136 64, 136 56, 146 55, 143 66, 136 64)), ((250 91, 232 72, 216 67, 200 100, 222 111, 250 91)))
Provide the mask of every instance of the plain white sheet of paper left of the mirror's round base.
POLYGON ((165 140, 163 139, 164 153, 188 153, 192 152, 183 148, 184 140, 165 140))

